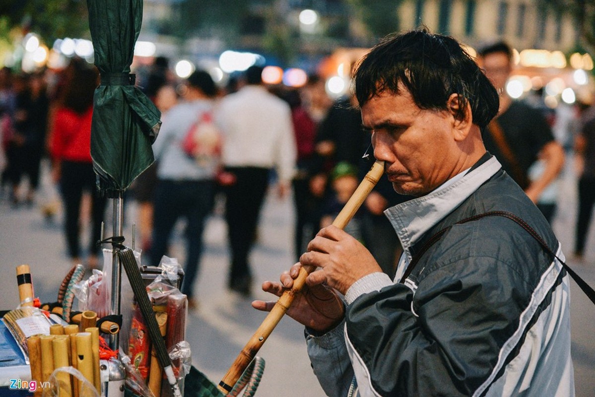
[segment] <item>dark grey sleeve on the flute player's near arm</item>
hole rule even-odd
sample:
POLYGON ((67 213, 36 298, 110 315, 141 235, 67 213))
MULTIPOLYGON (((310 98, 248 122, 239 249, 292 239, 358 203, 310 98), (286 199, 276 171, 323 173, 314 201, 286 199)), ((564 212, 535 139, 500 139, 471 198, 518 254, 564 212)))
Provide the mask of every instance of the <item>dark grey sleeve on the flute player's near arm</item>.
POLYGON ((518 327, 530 293, 511 265, 457 257, 431 267, 415 296, 396 284, 347 306, 347 348, 362 395, 471 395, 518 327))

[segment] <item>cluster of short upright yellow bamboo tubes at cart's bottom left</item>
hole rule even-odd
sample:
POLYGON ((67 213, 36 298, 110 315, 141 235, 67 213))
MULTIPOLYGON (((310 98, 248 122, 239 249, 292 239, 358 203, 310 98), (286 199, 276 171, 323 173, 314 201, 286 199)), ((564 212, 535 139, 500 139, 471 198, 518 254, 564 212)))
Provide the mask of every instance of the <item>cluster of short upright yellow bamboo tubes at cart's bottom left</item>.
MULTIPOLYGON (((99 371, 99 329, 86 327, 83 332, 76 324, 50 327, 50 335, 33 335, 27 338, 29 362, 32 380, 37 385, 48 385, 51 374, 61 367, 73 367, 95 387, 101 395, 101 377, 99 371)), ((83 382, 65 371, 58 372, 60 397, 83 395, 83 382)), ((42 395, 37 387, 35 396, 42 395)))

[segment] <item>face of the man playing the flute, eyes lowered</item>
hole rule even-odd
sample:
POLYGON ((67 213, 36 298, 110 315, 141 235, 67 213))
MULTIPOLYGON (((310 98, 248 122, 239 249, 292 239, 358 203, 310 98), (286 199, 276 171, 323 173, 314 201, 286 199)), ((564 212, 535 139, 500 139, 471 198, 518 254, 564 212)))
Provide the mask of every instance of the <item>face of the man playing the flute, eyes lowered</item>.
POLYGON ((372 133, 374 157, 397 193, 422 196, 450 177, 457 160, 454 117, 447 111, 421 110, 411 94, 383 92, 361 108, 365 129, 372 133))

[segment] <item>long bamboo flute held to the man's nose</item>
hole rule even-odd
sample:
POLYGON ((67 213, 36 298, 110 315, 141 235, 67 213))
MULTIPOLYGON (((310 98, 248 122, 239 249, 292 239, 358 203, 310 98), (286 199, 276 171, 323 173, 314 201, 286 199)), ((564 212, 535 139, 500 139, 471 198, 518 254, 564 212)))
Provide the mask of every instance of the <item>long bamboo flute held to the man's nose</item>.
MULTIPOLYGON (((337 215, 333 221, 333 226, 339 227, 340 229, 345 228, 374 186, 378 183, 378 180, 380 180, 383 173, 384 161, 375 161, 372 168, 365 175, 364 180, 362 180, 358 188, 353 192, 353 195, 349 198, 349 201, 345 204, 345 207, 343 207, 341 212, 339 212, 339 215, 337 215)), ((293 280, 292 289, 283 292, 283 295, 277 300, 273 309, 268 313, 264 321, 262 321, 254 335, 252 335, 248 343, 246 343, 240 354, 237 356, 236 361, 233 362, 233 365, 231 365, 223 379, 221 379, 221 382, 219 382, 217 387, 221 392, 226 395, 231 392, 231 389, 233 389, 237 380, 240 379, 246 368, 248 368, 248 365, 250 365, 250 362, 256 357, 256 353, 264 344, 265 340, 271 335, 273 329, 292 305, 293 299, 306 283, 308 274, 312 273, 314 270, 314 266, 302 266, 300 268, 299 275, 293 280)))

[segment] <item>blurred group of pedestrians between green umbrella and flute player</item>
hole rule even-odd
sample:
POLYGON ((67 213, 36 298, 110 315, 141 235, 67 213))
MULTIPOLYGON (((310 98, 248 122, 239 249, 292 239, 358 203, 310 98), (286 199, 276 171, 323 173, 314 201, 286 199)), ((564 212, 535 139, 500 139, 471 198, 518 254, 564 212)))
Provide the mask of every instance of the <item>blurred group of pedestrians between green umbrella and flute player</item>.
MULTIPOLYGON (((156 265, 167 254, 176 221, 185 218, 183 292, 190 306, 195 305, 192 285, 201 233, 214 208, 220 208, 228 226, 228 287, 249 295, 249 252, 258 239, 268 189, 276 185, 281 198, 293 200, 298 261, 371 166, 370 136, 353 98, 331 99, 320 76, 309 76, 299 88, 267 86, 262 68, 253 66, 224 88, 215 87, 201 70, 178 84, 167 61, 159 59, 144 79, 163 124, 154 144, 156 165, 131 189, 140 204, 140 240, 156 265)), ((394 274, 400 245, 383 211, 403 200, 383 179, 347 226, 389 274, 394 274)))

